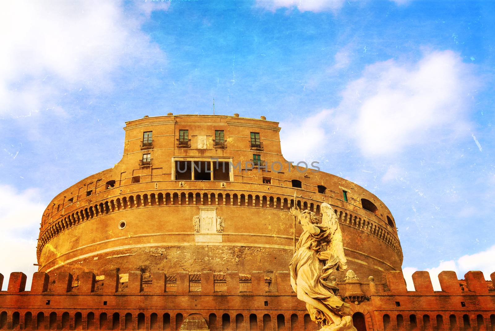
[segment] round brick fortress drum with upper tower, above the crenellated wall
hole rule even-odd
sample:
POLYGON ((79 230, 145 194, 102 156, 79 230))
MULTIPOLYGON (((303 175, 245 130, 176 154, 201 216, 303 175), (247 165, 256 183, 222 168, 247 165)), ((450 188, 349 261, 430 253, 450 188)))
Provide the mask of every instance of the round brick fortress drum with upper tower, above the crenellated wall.
POLYGON ((359 277, 380 281, 401 270, 385 204, 343 178, 288 163, 277 122, 168 115, 127 122, 124 130, 122 159, 45 210, 40 271, 285 271, 295 192, 296 203, 317 216, 323 202, 334 207, 348 268, 359 277))

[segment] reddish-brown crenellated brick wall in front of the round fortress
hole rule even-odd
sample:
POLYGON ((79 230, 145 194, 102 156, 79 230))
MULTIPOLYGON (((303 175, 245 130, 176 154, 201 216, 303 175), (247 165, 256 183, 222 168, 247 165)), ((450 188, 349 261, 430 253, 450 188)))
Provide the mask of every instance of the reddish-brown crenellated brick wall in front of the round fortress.
MULTIPOLYGON (((389 272, 386 283, 370 277, 335 284, 358 331, 492 331, 495 273, 491 277, 487 282, 470 271, 459 281, 444 271, 441 291, 433 290, 426 271, 413 274, 415 291, 407 291, 401 272, 389 272)), ((0 329, 179 330, 186 317, 199 314, 213 331, 316 330, 288 272, 273 278, 264 272, 85 272, 77 279, 60 272, 52 278, 37 272, 25 291, 26 275, 12 273, 7 291, 0 292, 0 329)))

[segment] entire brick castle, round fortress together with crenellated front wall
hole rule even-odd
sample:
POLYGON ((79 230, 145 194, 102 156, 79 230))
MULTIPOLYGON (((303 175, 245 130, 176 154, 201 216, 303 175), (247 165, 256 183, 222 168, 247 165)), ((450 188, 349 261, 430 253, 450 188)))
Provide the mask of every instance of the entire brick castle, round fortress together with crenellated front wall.
POLYGON ((330 280, 358 331, 495 331, 495 273, 444 271, 434 291, 418 271, 408 291, 387 206, 285 160, 277 122, 169 113, 124 130, 122 159, 46 208, 39 271, 30 291, 10 275, 0 330, 316 330, 290 285, 300 227, 289 210, 320 216, 327 202, 350 269, 330 280))

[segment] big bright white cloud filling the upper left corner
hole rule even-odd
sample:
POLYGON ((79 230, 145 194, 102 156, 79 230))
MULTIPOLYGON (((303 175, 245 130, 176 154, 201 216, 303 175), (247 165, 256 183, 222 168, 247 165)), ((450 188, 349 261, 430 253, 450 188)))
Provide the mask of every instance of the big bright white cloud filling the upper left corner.
POLYGON ((81 86, 109 89, 118 67, 164 58, 140 24, 167 6, 136 2, 124 13, 119 1, 2 1, 0 114, 55 107, 81 86))

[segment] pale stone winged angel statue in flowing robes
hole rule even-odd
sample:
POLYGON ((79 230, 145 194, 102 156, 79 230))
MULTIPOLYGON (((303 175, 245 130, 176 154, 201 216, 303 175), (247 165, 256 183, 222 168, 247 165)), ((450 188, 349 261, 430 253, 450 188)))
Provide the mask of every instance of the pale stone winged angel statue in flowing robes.
POLYGON ((337 297, 339 288, 327 281, 332 272, 347 269, 339 221, 328 203, 321 205, 321 211, 322 222, 318 224, 313 212, 291 208, 302 227, 289 264, 291 285, 321 330, 356 331, 348 312, 350 306, 337 297))

